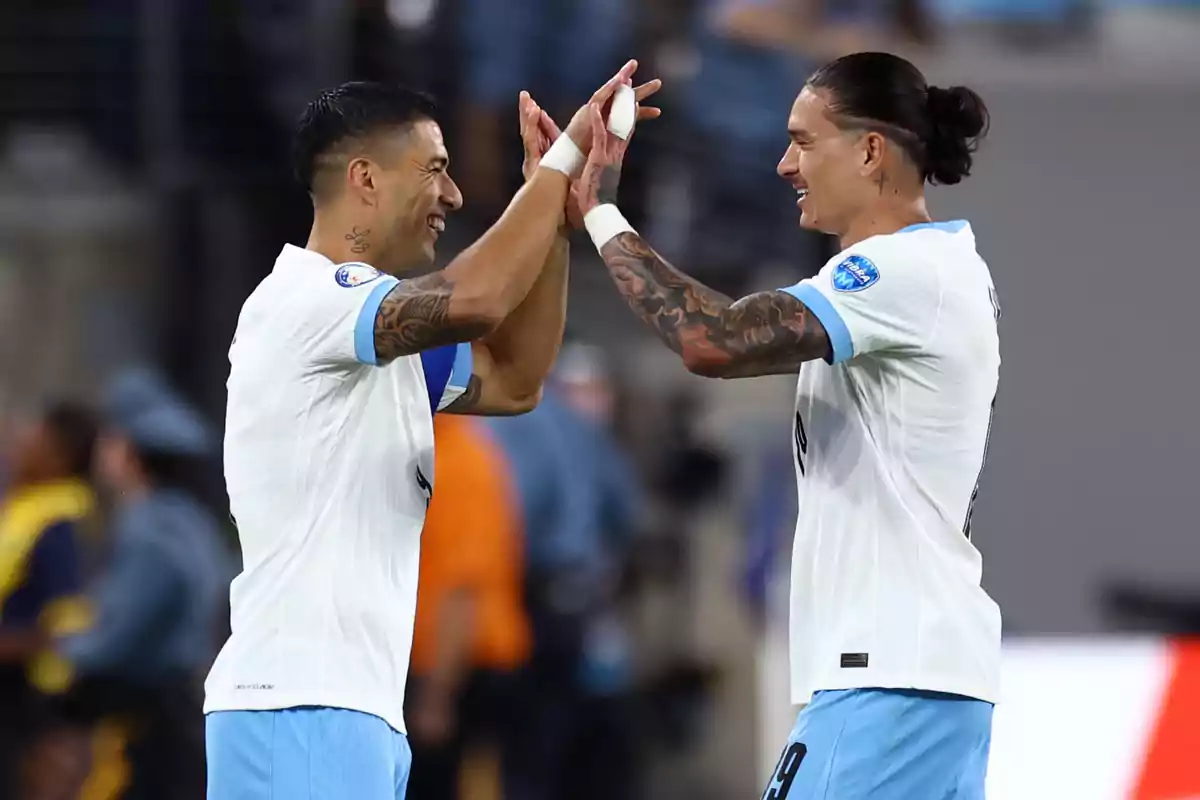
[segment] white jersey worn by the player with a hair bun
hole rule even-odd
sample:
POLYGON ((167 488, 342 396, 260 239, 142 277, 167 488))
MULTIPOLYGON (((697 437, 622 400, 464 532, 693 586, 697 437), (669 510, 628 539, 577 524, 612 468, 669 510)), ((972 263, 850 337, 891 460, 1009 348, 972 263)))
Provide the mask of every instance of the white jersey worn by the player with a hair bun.
POLYGON ((1000 609, 971 506, 1000 306, 971 227, 874 236, 785 291, 833 345, 796 393, 792 700, 875 687, 996 702, 1000 609))

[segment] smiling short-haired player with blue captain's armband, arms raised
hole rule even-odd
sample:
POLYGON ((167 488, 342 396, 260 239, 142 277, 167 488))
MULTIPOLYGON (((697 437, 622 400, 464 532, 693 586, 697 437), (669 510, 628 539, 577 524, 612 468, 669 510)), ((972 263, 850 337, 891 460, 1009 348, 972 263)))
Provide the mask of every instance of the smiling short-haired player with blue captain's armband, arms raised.
MULTIPOLYGON (((604 104, 636 67, 589 102, 604 104)), ((445 269, 403 281, 433 260, 462 204, 434 108, 352 83, 304 114, 307 247, 283 248, 229 350, 224 469, 244 569, 205 686, 210 798, 403 796, 432 415, 538 402, 563 332, 562 229, 590 148, 586 109, 559 136, 522 94, 526 185, 445 269)))

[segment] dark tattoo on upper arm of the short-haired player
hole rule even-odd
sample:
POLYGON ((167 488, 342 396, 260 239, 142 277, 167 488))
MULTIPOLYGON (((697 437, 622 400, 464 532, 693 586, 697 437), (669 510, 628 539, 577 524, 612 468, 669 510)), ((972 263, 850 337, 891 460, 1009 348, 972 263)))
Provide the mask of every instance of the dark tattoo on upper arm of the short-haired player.
POLYGON ((397 283, 376 313, 376 357, 391 361, 486 335, 491 330, 486 320, 451 315, 454 288, 454 281, 442 272, 397 283))

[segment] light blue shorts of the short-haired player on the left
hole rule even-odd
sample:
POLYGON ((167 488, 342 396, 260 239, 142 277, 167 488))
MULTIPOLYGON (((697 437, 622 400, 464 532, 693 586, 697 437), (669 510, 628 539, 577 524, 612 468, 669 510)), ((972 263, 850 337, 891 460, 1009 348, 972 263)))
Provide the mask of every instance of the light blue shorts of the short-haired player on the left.
POLYGON ((215 711, 205 720, 209 800, 403 800, 404 734, 346 709, 215 711))

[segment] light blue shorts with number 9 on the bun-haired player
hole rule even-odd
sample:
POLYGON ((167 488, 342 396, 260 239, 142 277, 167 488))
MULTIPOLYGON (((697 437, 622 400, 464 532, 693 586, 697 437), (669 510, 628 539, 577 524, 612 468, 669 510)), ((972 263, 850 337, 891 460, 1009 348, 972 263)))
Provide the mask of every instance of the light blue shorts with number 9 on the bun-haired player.
POLYGON ((991 709, 937 692, 817 692, 763 800, 984 800, 991 709))

